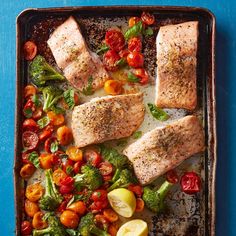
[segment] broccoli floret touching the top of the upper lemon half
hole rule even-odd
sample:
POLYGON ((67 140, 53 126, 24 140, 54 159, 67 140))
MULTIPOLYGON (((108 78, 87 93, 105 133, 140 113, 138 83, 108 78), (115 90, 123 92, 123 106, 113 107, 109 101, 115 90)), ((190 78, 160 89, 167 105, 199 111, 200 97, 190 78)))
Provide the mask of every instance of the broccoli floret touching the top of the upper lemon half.
POLYGON ((137 184, 138 181, 135 175, 128 169, 124 169, 120 172, 118 180, 113 183, 109 188, 108 191, 111 191, 115 188, 126 188, 130 184, 137 184))

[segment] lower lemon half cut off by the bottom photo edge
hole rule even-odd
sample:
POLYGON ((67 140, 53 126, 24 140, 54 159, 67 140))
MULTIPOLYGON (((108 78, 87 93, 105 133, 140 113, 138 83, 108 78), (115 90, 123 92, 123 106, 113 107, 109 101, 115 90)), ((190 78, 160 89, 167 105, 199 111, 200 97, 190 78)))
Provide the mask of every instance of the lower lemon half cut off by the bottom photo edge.
POLYGON ((148 227, 147 223, 143 220, 131 220, 122 225, 117 236, 147 236, 148 227))

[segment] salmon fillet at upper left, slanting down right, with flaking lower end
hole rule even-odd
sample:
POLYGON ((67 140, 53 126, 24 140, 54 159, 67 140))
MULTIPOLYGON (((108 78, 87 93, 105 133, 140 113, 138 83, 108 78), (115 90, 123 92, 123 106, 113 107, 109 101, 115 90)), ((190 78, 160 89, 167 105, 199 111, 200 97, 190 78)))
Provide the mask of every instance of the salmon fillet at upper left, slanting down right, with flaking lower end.
POLYGON ((76 89, 86 88, 91 76, 94 90, 102 87, 109 78, 99 57, 87 47, 79 25, 72 16, 52 33, 47 43, 58 67, 76 89))

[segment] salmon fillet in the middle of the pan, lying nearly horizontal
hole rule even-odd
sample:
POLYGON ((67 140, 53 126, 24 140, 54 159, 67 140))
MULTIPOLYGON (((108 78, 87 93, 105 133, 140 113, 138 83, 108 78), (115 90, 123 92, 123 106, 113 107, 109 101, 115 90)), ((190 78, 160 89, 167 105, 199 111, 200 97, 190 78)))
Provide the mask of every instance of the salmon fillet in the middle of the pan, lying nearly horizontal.
POLYGON ((142 93, 94 98, 76 106, 71 125, 75 144, 84 147, 128 137, 141 125, 144 113, 142 93))

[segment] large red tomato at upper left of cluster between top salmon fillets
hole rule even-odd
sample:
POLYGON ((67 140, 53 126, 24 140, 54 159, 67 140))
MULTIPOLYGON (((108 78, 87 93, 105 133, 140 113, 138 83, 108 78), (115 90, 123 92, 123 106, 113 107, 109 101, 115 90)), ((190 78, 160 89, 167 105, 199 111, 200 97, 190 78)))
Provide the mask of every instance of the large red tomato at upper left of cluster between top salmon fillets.
POLYGON ((116 29, 111 29, 106 32, 105 41, 110 49, 115 50, 116 52, 119 52, 125 46, 124 35, 116 29))

